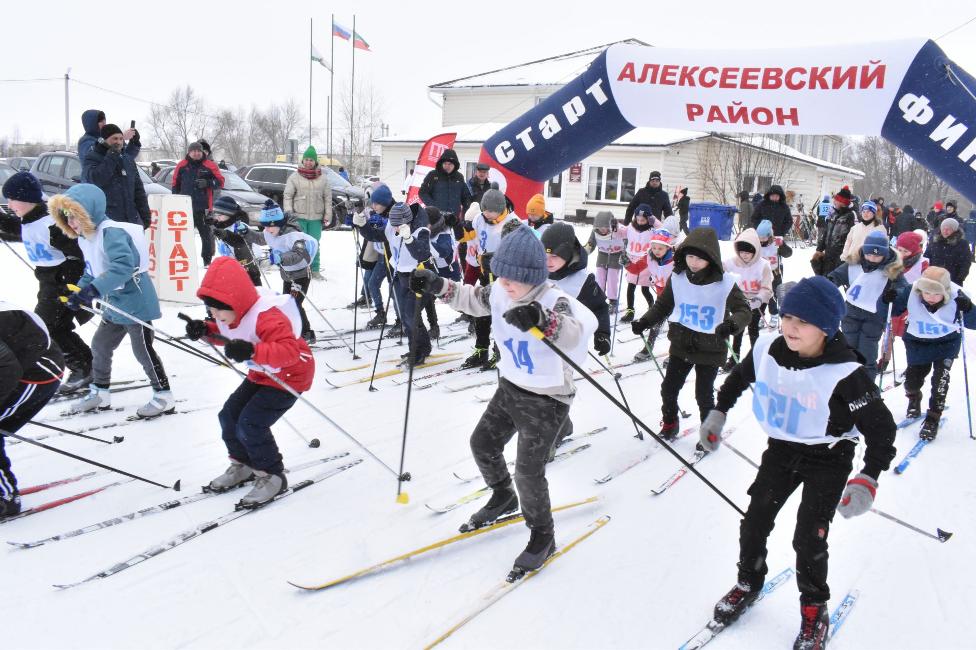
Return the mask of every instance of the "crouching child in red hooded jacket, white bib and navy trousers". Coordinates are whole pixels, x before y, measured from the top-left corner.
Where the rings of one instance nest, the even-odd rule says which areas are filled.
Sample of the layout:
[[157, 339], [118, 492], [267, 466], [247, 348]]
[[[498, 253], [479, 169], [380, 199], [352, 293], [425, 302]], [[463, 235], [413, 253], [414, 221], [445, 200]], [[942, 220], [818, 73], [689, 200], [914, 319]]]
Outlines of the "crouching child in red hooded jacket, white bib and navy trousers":
[[315, 362], [302, 339], [295, 299], [252, 285], [236, 259], [215, 259], [196, 295], [209, 308], [211, 318], [188, 321], [186, 335], [195, 341], [221, 334], [230, 339], [224, 348], [227, 358], [250, 368], [218, 415], [230, 467], [206, 489], [224, 492], [257, 478], [254, 488], [241, 499], [243, 507], [257, 508], [288, 488], [271, 425], [297, 401], [266, 372], [304, 393], [311, 388]]

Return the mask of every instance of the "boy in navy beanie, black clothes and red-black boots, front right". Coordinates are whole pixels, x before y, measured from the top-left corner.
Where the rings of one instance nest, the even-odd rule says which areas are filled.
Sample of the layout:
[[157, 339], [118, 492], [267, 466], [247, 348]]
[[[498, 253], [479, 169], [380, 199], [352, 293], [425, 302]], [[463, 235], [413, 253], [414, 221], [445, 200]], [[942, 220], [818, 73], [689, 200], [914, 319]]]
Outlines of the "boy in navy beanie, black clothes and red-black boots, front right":
[[[755, 421], [748, 429], [761, 429], [769, 438], [739, 525], [736, 584], [712, 613], [718, 623], [734, 622], [758, 598], [768, 571], [767, 538], [780, 509], [802, 485], [793, 532], [800, 591], [794, 648], [815, 647], [811, 641], [824, 638], [829, 625], [828, 539], [834, 514], [849, 518], [867, 513], [878, 477], [895, 456], [897, 428], [891, 412], [864, 359], [837, 331], [844, 312], [844, 299], [825, 278], [796, 284], [780, 305], [783, 333], [759, 336], [729, 373], [699, 429], [706, 451], [717, 450], [725, 414], [752, 386], [744, 412], [752, 412]], [[864, 466], [848, 480], [862, 436]]]

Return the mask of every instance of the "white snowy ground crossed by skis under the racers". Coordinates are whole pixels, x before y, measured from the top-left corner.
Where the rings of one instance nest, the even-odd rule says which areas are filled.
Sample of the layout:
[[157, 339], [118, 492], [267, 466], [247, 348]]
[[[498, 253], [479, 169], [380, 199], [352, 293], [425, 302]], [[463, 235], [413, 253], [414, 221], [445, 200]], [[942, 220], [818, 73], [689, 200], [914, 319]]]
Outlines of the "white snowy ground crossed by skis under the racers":
[[[581, 240], [588, 234], [579, 231]], [[351, 237], [348, 232], [323, 236], [323, 267], [329, 281], [314, 283], [311, 293], [337, 327], [352, 325], [352, 312], [341, 309], [353, 297]], [[723, 243], [722, 248], [728, 253], [731, 245]], [[809, 275], [810, 252], [795, 250], [787, 260], [787, 280]], [[32, 306], [35, 283], [20, 261], [9, 251], [2, 252], [0, 269], [5, 279], [3, 299]], [[276, 279], [274, 285], [278, 286]], [[637, 304], [640, 310], [639, 295]], [[183, 309], [203, 315], [202, 306]], [[438, 310], [443, 325], [453, 321], [454, 315], [446, 307], [441, 305]], [[183, 333], [178, 311], [165, 307], [158, 325]], [[318, 320], [314, 314], [309, 316], [313, 322]], [[366, 315], [360, 313], [359, 318], [362, 323]], [[325, 328], [324, 323], [319, 325]], [[90, 324], [82, 332], [90, 338], [94, 330], [95, 325]], [[623, 329], [623, 335], [629, 337], [629, 329]], [[451, 349], [467, 355], [470, 344], [468, 339]], [[618, 344], [616, 360], [629, 360], [638, 345]], [[182, 478], [182, 496], [224, 471], [217, 412], [238, 379], [230, 370], [170, 347], [158, 345], [157, 349], [171, 373], [176, 397], [184, 400], [180, 407], [202, 406], [203, 410], [119, 429], [114, 433], [125, 436], [121, 444], [67, 436], [47, 441], [162, 483]], [[658, 344], [659, 352], [665, 349], [665, 344]], [[381, 352], [381, 360], [404, 350], [391, 345]], [[360, 344], [357, 351], [364, 361], [372, 361], [371, 350]], [[897, 353], [902, 368], [904, 348], [900, 344]], [[976, 346], [969, 348], [969, 356], [976, 359]], [[113, 378], [142, 377], [126, 344], [115, 359]], [[368, 375], [368, 370], [336, 373], [326, 367], [325, 363], [352, 365], [347, 350], [316, 353], [316, 362], [317, 377], [306, 394], [308, 399], [386, 464], [398, 467], [406, 386], [387, 378], [377, 380], [380, 390], [375, 393], [368, 392], [365, 384], [333, 389], [323, 377], [348, 380]], [[976, 577], [971, 541], [976, 534], [976, 515], [966, 510], [970, 507], [966, 504], [972, 503], [976, 488], [959, 472], [973, 462], [976, 442], [968, 439], [961, 365], [960, 361], [953, 371], [949, 424], [905, 475], [887, 472], [880, 478], [875, 502], [878, 509], [925, 530], [935, 532], [940, 526], [955, 537], [940, 545], [880, 516], [836, 517], [831, 534], [831, 604], [836, 605], [852, 587], [860, 590], [861, 598], [834, 640], [834, 648], [973, 645], [965, 621], [969, 620], [967, 602]], [[625, 370], [637, 368], [643, 369]], [[427, 372], [434, 369], [439, 368]], [[447, 384], [487, 378], [468, 376]], [[606, 374], [596, 380], [616, 392]], [[635, 412], [656, 425], [660, 420], [657, 373], [624, 379], [622, 385]], [[405, 484], [409, 505], [395, 502], [395, 479], [366, 458], [358, 467], [261, 512], [106, 580], [67, 591], [52, 585], [81, 580], [223, 515], [240, 493], [36, 549], [4, 545], [5, 550], [0, 550], [3, 647], [407, 648], [429, 634], [446, 631], [459, 612], [467, 611], [507, 575], [511, 560], [528, 538], [523, 526], [508, 526], [324, 592], [302, 592], [287, 582], [325, 582], [425, 546], [454, 534], [479, 507], [474, 503], [435, 515], [424, 506], [447, 504], [481, 485], [476, 481], [463, 484], [452, 473], [476, 473], [468, 435], [484, 407], [477, 397], [490, 396], [493, 388], [450, 393], [443, 386], [413, 394], [405, 465], [413, 475]], [[609, 430], [586, 440], [592, 444], [587, 451], [552, 466], [552, 501], [562, 504], [593, 495], [602, 500], [557, 515], [557, 539], [568, 540], [598, 516], [612, 516], [612, 521], [456, 632], [444, 647], [674, 648], [704, 625], [714, 601], [735, 582], [739, 516], [694, 477], [683, 478], [660, 497], [652, 496], [649, 489], [677, 466], [665, 451], [605, 485], [593, 481], [642, 455], [653, 442], [635, 440], [626, 416], [592, 386], [585, 382], [578, 386], [580, 395], [572, 409], [576, 431], [602, 425]], [[925, 395], [927, 400], [927, 386]], [[149, 391], [144, 389], [117, 394], [113, 401], [135, 408], [148, 397]], [[903, 392], [888, 391], [884, 399], [900, 420], [906, 405]], [[680, 404], [693, 413], [682, 426], [697, 423], [690, 385], [682, 392]], [[56, 419], [63, 409], [63, 402], [50, 405], [40, 418]], [[124, 415], [99, 414], [61, 424], [81, 428], [121, 420]], [[307, 438], [322, 440], [322, 446], [309, 449], [287, 427], [277, 427], [286, 465], [340, 451], [350, 452], [350, 459], [364, 457], [306, 406], [294, 407], [288, 419]], [[728, 422], [738, 426], [730, 441], [758, 460], [766, 438], [757, 429], [747, 400], [740, 401]], [[29, 436], [42, 433], [30, 426], [21, 430]], [[110, 437], [112, 433], [105, 430], [95, 435]], [[915, 440], [915, 429], [899, 433], [899, 459]], [[688, 456], [693, 444], [689, 437], [677, 442], [676, 448]], [[88, 467], [26, 444], [8, 450], [21, 486], [80, 474]], [[754, 476], [750, 466], [722, 449], [698, 467], [746, 508], [746, 489]], [[298, 476], [311, 474], [312, 470], [306, 470]], [[24, 507], [113, 479], [91, 478], [30, 495], [24, 497]], [[51, 512], [0, 525], [0, 540], [40, 539], [177, 496], [145, 483], [127, 483]], [[784, 508], [769, 541], [769, 566], [774, 573], [793, 564], [797, 499], [794, 495]], [[912, 624], [906, 625], [908, 622]], [[713, 643], [715, 648], [784, 648], [790, 647], [797, 629], [797, 592], [791, 582]]]

